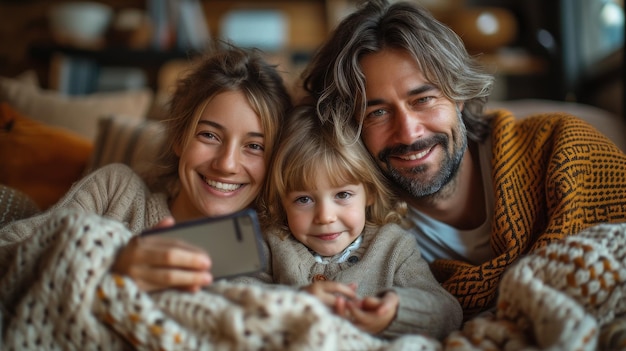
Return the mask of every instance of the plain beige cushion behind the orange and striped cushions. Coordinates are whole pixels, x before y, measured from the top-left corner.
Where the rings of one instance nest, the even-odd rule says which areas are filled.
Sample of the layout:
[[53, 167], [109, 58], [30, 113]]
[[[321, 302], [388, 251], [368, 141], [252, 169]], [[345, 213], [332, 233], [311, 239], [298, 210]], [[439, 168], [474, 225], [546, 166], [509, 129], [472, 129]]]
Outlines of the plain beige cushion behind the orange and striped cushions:
[[119, 114], [145, 119], [152, 100], [149, 89], [66, 96], [18, 79], [0, 77], [0, 102], [9, 103], [34, 120], [66, 128], [91, 141], [95, 140], [101, 117]]

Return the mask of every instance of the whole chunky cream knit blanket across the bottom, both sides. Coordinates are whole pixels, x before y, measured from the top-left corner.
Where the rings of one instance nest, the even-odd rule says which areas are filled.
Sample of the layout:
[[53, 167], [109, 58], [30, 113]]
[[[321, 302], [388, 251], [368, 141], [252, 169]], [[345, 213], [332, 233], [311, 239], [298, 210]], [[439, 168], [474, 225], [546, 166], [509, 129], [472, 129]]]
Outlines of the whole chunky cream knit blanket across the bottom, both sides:
[[620, 350], [626, 349], [626, 224], [589, 228], [521, 259], [498, 309], [443, 342], [359, 331], [291, 290], [216, 283], [141, 292], [109, 273], [132, 235], [61, 211], [20, 246], [0, 281], [2, 350]]

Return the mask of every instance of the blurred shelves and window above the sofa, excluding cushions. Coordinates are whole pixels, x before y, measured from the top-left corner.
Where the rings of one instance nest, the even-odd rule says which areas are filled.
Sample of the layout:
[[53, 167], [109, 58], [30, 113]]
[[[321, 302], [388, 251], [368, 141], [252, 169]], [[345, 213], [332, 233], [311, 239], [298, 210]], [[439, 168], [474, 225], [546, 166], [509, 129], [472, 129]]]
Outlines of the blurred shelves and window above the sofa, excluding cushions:
[[[412, 0], [497, 77], [493, 101], [580, 102], [624, 116], [623, 0]], [[352, 0], [0, 0], [0, 76], [85, 95], [167, 89], [214, 39], [297, 78]]]

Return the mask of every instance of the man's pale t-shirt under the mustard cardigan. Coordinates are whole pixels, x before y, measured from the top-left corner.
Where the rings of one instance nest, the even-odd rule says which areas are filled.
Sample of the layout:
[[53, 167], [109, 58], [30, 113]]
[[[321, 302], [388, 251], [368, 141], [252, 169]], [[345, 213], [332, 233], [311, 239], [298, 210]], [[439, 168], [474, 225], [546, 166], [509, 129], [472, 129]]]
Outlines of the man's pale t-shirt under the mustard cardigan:
[[435, 259], [454, 259], [480, 264], [492, 259], [491, 219], [493, 217], [493, 186], [491, 180], [491, 142], [479, 144], [479, 162], [485, 189], [485, 222], [475, 229], [459, 230], [435, 220], [409, 206], [409, 231], [417, 238], [422, 256], [427, 262]]

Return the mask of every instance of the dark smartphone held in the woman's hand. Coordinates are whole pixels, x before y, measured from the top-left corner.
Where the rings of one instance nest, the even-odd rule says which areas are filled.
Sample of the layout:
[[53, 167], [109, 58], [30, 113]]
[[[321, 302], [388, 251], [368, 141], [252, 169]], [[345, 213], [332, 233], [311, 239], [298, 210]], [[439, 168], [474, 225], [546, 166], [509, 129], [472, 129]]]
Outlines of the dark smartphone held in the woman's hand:
[[213, 279], [256, 273], [265, 266], [261, 229], [253, 209], [150, 229], [142, 235], [164, 235], [204, 249], [211, 257]]

